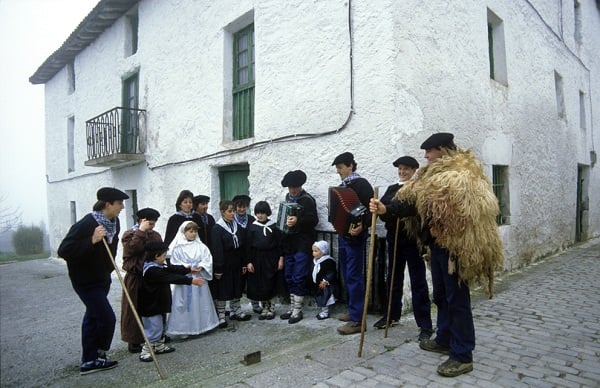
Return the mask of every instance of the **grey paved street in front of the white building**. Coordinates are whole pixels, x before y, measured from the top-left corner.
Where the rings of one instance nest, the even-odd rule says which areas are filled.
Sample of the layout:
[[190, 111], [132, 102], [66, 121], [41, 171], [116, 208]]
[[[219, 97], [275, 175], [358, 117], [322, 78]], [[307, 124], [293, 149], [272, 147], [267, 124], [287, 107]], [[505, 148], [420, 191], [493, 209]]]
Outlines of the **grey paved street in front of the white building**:
[[[474, 370], [457, 378], [437, 375], [445, 356], [419, 349], [410, 316], [383, 338], [383, 330], [372, 327], [378, 317], [370, 315], [359, 358], [360, 336], [336, 334], [340, 322], [318, 321], [314, 306], [295, 325], [255, 316], [229, 330], [175, 341], [175, 353], [159, 356], [164, 381], [152, 363], [127, 352], [117, 331], [111, 354], [119, 367], [79, 376], [83, 306], [64, 262], [45, 259], [0, 269], [2, 387], [600, 386], [600, 239], [503, 276], [492, 300], [475, 292]], [[110, 297], [118, 316], [116, 279]], [[343, 306], [336, 309], [341, 313]], [[257, 350], [260, 363], [240, 362]]]

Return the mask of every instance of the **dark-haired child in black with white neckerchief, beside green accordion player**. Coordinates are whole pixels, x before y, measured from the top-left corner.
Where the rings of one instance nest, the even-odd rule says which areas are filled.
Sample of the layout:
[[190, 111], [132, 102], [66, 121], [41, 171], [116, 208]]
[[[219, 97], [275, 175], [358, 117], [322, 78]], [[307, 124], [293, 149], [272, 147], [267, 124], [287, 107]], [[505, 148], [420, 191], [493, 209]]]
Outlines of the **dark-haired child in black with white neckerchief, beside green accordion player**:
[[254, 206], [256, 220], [248, 226], [248, 299], [259, 300], [262, 312], [258, 319], [275, 318], [271, 299], [283, 285], [282, 232], [269, 219], [271, 207], [265, 201]]

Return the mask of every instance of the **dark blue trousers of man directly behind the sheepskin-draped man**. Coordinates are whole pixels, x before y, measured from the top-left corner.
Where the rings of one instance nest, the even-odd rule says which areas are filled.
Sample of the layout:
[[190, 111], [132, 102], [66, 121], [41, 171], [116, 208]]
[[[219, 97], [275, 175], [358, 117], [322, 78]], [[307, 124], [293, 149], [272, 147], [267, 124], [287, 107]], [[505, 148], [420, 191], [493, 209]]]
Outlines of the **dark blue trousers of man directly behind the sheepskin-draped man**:
[[[394, 234], [388, 233], [386, 239], [388, 244], [388, 293], [392, 281], [392, 267], [394, 265]], [[412, 293], [412, 307], [417, 326], [422, 329], [431, 329], [431, 301], [429, 300], [429, 287], [427, 285], [425, 262], [419, 255], [417, 242], [411, 239], [399, 238], [396, 246], [396, 274], [392, 287], [392, 304], [390, 319], [398, 320], [402, 313], [402, 294], [404, 288], [404, 269], [408, 264], [410, 276], [410, 290]], [[387, 298], [385, 295], [385, 308], [387, 314]]]

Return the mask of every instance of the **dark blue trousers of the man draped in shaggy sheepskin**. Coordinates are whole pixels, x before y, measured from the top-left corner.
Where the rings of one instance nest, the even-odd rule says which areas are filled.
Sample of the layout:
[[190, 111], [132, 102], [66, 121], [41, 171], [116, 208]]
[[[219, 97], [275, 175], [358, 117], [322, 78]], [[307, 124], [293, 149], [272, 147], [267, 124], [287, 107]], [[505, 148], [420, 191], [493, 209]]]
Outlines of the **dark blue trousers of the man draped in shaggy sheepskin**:
[[430, 248], [433, 302], [438, 307], [435, 341], [450, 347], [451, 359], [473, 362], [475, 326], [469, 287], [459, 282], [456, 273], [448, 274], [448, 251], [437, 244]]

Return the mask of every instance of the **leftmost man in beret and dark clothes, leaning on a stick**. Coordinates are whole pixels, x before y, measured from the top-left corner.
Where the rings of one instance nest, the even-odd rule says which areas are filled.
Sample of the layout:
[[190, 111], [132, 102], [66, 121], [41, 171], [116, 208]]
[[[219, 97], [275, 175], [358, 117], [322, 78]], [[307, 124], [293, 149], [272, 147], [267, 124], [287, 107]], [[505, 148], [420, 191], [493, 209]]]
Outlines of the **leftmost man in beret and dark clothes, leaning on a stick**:
[[67, 262], [73, 289], [86, 308], [81, 325], [82, 375], [117, 366], [117, 361], [110, 361], [106, 355], [116, 318], [107, 298], [114, 266], [102, 241], [106, 239], [114, 257], [119, 244], [118, 216], [124, 208], [123, 200], [129, 196], [103, 187], [96, 197], [93, 211], [71, 226], [58, 248], [58, 255]]

